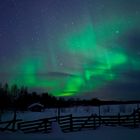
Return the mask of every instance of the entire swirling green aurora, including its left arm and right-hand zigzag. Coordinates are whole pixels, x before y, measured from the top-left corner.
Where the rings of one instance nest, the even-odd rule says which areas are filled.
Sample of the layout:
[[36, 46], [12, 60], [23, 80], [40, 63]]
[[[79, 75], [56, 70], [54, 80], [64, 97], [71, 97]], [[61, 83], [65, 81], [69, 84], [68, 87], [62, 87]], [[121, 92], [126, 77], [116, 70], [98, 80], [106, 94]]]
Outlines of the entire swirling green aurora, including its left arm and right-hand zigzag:
[[[20, 66], [23, 73], [21, 78], [23, 85], [47, 89], [55, 96], [73, 96], [83, 91], [94, 91], [105, 83], [114, 80], [114, 68], [127, 61], [127, 56], [123, 51], [115, 51], [97, 45], [96, 32], [91, 24], [68, 33], [61, 38], [59, 43], [59, 46], [64, 46], [64, 52], [72, 54], [79, 61], [84, 60], [84, 62], [76, 63], [71, 62], [71, 58], [67, 58], [68, 63], [77, 64], [79, 67], [77, 76], [52, 78], [47, 75], [47, 69], [46, 75], [38, 76], [40, 68], [44, 67], [44, 60], [26, 58], [26, 61], [24, 60]], [[73, 65], [69, 65], [69, 67], [73, 67]], [[72, 72], [75, 73], [74, 70]]]

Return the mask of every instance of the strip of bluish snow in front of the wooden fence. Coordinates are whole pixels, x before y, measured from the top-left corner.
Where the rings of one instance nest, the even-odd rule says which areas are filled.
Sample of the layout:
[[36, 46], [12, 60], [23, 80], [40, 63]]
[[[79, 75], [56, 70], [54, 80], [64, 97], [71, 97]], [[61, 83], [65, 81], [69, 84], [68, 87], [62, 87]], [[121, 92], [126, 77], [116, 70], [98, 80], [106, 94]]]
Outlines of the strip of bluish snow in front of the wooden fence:
[[0, 140], [139, 140], [140, 129], [101, 127], [97, 130], [50, 134], [0, 133]]

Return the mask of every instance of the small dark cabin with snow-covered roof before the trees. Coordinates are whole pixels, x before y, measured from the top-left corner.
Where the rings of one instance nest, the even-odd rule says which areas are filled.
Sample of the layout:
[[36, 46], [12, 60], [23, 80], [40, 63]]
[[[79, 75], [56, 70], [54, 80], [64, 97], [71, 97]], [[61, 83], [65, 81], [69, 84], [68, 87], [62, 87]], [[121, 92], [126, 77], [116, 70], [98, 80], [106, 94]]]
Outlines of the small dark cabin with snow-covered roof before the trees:
[[44, 111], [44, 106], [40, 103], [33, 103], [30, 106], [28, 106], [28, 110], [33, 112], [41, 112]]

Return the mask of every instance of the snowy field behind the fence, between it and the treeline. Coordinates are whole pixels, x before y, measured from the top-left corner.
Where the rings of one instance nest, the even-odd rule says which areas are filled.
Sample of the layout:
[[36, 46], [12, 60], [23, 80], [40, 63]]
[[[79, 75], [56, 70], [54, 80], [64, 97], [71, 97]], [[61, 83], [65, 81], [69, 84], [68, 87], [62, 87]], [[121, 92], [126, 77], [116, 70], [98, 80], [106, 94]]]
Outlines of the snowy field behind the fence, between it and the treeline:
[[[103, 105], [100, 106], [100, 115], [121, 115], [131, 114], [134, 109], [137, 109], [140, 105], [138, 104], [128, 104], [128, 105]], [[44, 112], [17, 112], [17, 119], [26, 120], [35, 120], [40, 118], [48, 118], [57, 116], [58, 109], [45, 109]], [[71, 107], [71, 108], [62, 108], [60, 115], [69, 115], [73, 116], [89, 116], [91, 114], [99, 114], [99, 107], [96, 106], [80, 106], [80, 107]], [[8, 111], [4, 112], [1, 116], [2, 121], [11, 120], [13, 118], [13, 112]]]

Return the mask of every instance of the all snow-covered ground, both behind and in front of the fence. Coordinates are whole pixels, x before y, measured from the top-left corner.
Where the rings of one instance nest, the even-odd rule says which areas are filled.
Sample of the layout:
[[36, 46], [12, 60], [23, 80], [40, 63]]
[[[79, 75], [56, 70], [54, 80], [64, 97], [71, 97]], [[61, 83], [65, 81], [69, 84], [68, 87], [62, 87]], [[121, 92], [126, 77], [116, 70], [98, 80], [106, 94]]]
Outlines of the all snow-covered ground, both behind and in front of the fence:
[[[139, 105], [104, 105], [100, 107], [101, 115], [131, 114]], [[46, 109], [44, 112], [17, 112], [17, 118], [34, 120], [39, 118], [53, 117], [57, 115], [57, 109]], [[73, 114], [73, 116], [99, 114], [99, 107], [73, 107], [61, 109], [61, 115]], [[1, 120], [11, 120], [13, 112], [3, 113]], [[100, 127], [96, 130], [63, 133], [59, 127], [52, 126], [50, 134], [23, 132], [0, 132], [0, 140], [139, 140], [140, 128], [130, 129], [125, 127]]]

